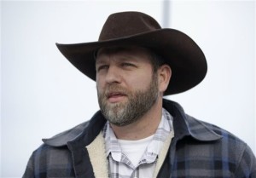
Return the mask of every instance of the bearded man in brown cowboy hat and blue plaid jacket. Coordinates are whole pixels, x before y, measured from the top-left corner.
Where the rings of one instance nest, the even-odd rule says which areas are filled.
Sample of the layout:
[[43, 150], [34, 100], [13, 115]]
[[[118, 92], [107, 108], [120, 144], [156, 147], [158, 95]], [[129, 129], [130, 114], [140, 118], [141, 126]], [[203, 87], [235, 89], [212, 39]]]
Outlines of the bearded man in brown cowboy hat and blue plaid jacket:
[[99, 40], [57, 44], [96, 81], [101, 110], [44, 140], [23, 177], [256, 177], [246, 143], [164, 95], [201, 83], [207, 62], [183, 32], [147, 14], [111, 14]]

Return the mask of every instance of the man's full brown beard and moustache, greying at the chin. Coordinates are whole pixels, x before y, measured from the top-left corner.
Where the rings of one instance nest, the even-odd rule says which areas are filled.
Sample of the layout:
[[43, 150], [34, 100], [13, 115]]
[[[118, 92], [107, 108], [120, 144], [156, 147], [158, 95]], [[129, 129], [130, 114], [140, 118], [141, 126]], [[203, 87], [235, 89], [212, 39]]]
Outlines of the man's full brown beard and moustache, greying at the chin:
[[[108, 93], [118, 91], [125, 94], [127, 100], [124, 102], [109, 104]], [[108, 85], [104, 93], [98, 93], [98, 102], [103, 116], [116, 126], [125, 126], [136, 122], [148, 112], [159, 97], [157, 75], [153, 74], [151, 83], [144, 90], [135, 92], [128, 91], [116, 83]]]

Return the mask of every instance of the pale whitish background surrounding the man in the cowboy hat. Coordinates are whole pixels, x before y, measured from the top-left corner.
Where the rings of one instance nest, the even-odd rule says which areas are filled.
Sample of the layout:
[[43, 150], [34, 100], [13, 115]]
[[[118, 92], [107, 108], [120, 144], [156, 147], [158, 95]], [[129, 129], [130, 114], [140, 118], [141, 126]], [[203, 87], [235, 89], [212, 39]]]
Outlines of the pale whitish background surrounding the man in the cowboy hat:
[[108, 14], [126, 10], [150, 14], [201, 46], [207, 77], [168, 98], [256, 152], [254, 1], [2, 1], [1, 177], [20, 177], [41, 138], [72, 128], [98, 110], [96, 83], [55, 43], [96, 41]]

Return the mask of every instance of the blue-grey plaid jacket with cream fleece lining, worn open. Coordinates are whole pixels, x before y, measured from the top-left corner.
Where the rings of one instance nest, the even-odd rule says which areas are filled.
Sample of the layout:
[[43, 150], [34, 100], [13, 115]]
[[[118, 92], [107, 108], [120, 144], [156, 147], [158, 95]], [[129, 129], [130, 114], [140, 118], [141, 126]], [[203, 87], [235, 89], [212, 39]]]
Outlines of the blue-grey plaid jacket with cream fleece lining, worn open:
[[[176, 102], [163, 103], [173, 117], [175, 135], [158, 178], [256, 178], [256, 158], [244, 141], [211, 123], [190, 117]], [[44, 140], [32, 153], [23, 178], [94, 178], [96, 166], [107, 170], [108, 164], [92, 161], [106, 160], [105, 152], [94, 158], [85, 147], [98, 138], [105, 124], [102, 113], [96, 112], [89, 122]]]

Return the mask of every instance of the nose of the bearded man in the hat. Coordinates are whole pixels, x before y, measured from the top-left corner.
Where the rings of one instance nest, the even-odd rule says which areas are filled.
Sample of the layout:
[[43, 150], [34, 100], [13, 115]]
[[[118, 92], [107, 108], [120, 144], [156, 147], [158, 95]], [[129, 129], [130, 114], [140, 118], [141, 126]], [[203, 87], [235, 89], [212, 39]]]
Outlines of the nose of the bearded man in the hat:
[[108, 72], [106, 73], [106, 82], [107, 83], [120, 83], [121, 75], [117, 66], [109, 66]]

